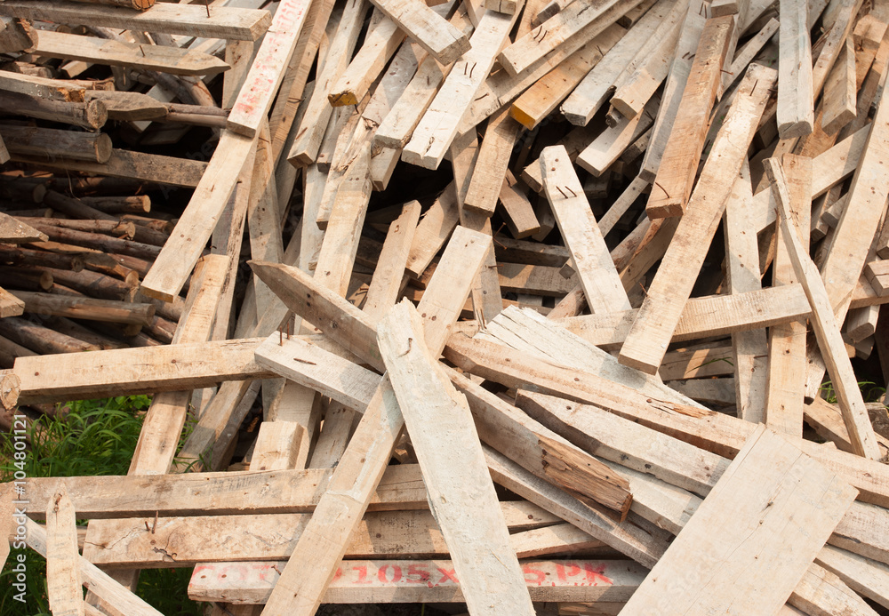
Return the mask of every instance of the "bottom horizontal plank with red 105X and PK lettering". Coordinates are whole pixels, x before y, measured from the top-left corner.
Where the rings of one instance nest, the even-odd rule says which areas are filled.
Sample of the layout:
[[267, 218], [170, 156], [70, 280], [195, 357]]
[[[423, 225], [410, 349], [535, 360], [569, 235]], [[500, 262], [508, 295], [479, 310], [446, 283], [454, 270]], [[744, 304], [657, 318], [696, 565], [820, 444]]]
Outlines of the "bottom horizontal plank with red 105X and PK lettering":
[[[283, 563], [206, 564], [196, 568], [189, 596], [204, 601], [261, 604], [279, 583]], [[525, 561], [534, 601], [597, 601], [629, 596], [645, 576], [631, 561]], [[450, 560], [350, 560], [324, 594], [325, 604], [459, 603], [462, 581]], [[382, 580], [382, 581], [380, 581]]]

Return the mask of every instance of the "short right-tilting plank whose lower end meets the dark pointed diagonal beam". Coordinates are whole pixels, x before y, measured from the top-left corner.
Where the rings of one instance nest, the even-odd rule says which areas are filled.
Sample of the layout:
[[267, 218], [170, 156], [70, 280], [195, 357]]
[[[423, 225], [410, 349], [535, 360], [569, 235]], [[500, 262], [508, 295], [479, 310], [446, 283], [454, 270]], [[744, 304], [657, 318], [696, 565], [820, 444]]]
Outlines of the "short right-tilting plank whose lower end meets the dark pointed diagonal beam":
[[398, 300], [419, 220], [420, 202], [412, 201], [404, 204], [401, 215], [389, 224], [386, 241], [364, 299], [364, 312], [372, 318], [380, 318]]

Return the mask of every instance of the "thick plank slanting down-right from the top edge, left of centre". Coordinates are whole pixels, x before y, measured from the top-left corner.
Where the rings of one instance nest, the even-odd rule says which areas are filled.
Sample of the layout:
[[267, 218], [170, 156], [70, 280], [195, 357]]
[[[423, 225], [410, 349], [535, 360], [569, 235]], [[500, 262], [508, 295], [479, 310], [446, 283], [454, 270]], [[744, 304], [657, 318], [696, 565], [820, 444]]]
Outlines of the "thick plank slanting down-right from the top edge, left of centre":
[[429, 8], [425, 2], [373, 0], [373, 5], [441, 64], [450, 64], [469, 52], [470, 44], [467, 36]]

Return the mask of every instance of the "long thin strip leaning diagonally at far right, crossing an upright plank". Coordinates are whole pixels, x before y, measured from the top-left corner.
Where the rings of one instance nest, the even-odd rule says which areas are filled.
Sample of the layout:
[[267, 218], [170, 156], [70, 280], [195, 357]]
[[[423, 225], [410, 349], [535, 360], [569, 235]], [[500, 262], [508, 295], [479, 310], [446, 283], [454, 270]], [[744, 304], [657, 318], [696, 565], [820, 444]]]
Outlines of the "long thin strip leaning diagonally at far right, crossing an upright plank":
[[791, 197], [781, 164], [773, 158], [768, 158], [765, 160], [765, 172], [772, 182], [784, 245], [787, 246], [794, 272], [803, 284], [805, 296], [812, 306], [812, 326], [818, 339], [818, 346], [821, 348], [821, 356], [828, 367], [830, 380], [837, 392], [837, 400], [843, 412], [845, 427], [849, 430], [853, 452], [871, 460], [879, 460], [877, 437], [870, 424], [868, 410], [864, 406], [852, 364], [845, 353], [845, 343], [839, 331], [837, 316], [831, 309], [824, 280], [808, 252], [805, 251], [797, 228], [791, 222]]

